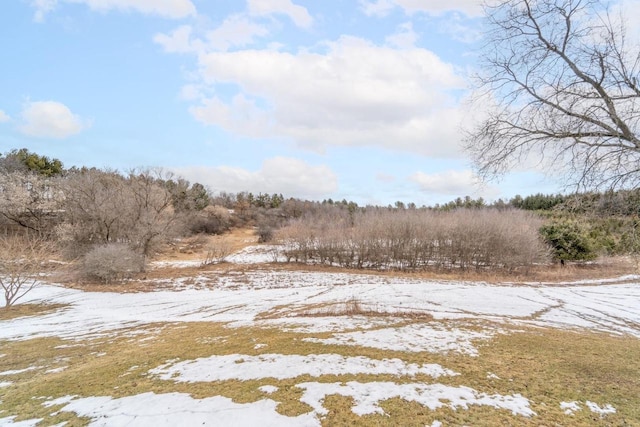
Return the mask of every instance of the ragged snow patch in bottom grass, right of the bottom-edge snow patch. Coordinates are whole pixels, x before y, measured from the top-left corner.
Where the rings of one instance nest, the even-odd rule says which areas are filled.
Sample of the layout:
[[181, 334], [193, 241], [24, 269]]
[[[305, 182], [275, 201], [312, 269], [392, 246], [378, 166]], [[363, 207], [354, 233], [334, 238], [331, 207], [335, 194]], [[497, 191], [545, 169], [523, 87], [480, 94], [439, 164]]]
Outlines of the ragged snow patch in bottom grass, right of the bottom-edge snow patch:
[[298, 384], [296, 387], [304, 390], [300, 401], [311, 406], [320, 415], [328, 413], [322, 406], [322, 401], [326, 396], [332, 394], [351, 397], [354, 401], [354, 406], [351, 410], [357, 415], [384, 414], [378, 404], [394, 397], [419, 403], [431, 410], [445, 406], [452, 409], [467, 409], [471, 405], [486, 405], [508, 410], [514, 415], [525, 417], [535, 415], [535, 412], [529, 407], [529, 401], [519, 394], [508, 396], [488, 395], [464, 386], [350, 381], [346, 384], [308, 382]]

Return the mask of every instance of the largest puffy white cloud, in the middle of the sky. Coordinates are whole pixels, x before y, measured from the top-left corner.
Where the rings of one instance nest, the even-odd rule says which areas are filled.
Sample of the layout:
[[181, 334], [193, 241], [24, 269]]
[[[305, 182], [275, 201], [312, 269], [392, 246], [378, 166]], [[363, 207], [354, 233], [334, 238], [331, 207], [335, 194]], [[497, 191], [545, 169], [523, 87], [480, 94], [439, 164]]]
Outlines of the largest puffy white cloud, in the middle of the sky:
[[374, 145], [434, 156], [458, 153], [464, 86], [450, 64], [425, 49], [396, 50], [356, 37], [301, 50], [210, 52], [202, 81], [239, 91], [191, 108], [201, 122], [254, 137], [285, 137], [322, 151]]

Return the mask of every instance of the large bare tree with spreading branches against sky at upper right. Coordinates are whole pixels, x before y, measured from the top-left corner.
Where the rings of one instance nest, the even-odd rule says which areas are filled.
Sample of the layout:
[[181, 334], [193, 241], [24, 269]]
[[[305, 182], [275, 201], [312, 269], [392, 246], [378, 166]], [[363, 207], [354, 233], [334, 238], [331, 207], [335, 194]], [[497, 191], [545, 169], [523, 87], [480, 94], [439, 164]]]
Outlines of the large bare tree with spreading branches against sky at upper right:
[[541, 156], [578, 189], [640, 183], [640, 50], [601, 0], [498, 0], [486, 6], [479, 99], [493, 108], [466, 138], [495, 178]]

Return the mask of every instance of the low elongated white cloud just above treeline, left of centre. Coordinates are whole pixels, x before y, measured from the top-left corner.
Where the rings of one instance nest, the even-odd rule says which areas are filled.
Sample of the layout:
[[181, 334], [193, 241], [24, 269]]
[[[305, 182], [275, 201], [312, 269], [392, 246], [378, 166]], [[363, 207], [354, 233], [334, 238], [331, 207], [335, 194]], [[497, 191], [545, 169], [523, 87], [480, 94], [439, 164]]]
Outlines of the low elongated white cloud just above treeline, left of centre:
[[288, 157], [266, 159], [258, 171], [230, 166], [186, 167], [173, 171], [214, 191], [282, 193], [290, 197], [318, 198], [338, 188], [338, 178], [328, 166], [314, 166]]

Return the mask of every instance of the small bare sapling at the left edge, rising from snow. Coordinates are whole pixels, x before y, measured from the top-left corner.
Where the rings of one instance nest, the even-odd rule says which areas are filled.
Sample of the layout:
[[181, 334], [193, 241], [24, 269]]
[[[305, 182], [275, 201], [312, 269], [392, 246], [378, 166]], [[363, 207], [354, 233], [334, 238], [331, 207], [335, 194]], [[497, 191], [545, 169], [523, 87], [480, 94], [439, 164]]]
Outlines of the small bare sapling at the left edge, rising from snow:
[[51, 256], [45, 241], [25, 236], [0, 238], [0, 286], [8, 309], [38, 284], [38, 274]]

